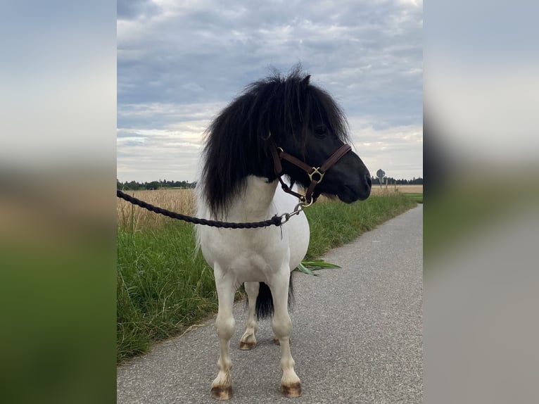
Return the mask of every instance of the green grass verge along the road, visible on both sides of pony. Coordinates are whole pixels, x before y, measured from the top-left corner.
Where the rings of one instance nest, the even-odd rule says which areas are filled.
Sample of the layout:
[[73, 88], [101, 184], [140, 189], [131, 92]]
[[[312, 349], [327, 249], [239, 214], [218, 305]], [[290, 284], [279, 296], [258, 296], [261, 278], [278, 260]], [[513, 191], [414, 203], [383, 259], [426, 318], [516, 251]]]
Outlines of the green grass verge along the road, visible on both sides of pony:
[[[415, 205], [404, 194], [388, 194], [351, 205], [325, 201], [310, 206], [305, 209], [311, 228], [305, 259], [353, 241]], [[118, 226], [118, 362], [217, 311], [213, 272], [194, 250], [193, 227], [184, 222], [170, 220], [157, 229]]]

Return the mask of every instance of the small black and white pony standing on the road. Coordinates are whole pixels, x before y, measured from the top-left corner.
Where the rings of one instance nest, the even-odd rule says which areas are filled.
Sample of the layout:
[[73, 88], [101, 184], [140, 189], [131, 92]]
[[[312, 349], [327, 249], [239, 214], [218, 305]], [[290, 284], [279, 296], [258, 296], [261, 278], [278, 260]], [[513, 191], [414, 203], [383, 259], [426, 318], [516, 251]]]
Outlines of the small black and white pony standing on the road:
[[[320, 194], [338, 196], [346, 203], [370, 194], [369, 170], [345, 145], [349, 139], [343, 112], [299, 68], [286, 77], [274, 73], [250, 84], [217, 115], [207, 136], [196, 192], [198, 217], [258, 222], [290, 213], [298, 202], [303, 208]], [[281, 175], [303, 185], [307, 196], [298, 200], [278, 187]], [[281, 393], [300, 396], [290, 352], [288, 286], [291, 271], [309, 245], [307, 218], [300, 212], [280, 228], [198, 225], [196, 233], [204, 258], [213, 267], [219, 297], [215, 327], [220, 356], [213, 398], [232, 397], [232, 305], [242, 283], [248, 295], [248, 320], [240, 348], [255, 347], [257, 318], [272, 314], [273, 332], [281, 346]]]

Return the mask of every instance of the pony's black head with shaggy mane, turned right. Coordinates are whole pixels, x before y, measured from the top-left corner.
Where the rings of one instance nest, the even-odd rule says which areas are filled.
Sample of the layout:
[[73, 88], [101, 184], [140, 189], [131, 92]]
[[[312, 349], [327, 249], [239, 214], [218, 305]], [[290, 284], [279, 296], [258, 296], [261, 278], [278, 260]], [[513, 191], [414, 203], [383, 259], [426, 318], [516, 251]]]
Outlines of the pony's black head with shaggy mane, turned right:
[[[296, 67], [287, 76], [274, 73], [248, 85], [243, 94], [213, 120], [206, 132], [201, 185], [213, 213], [226, 209], [248, 175], [277, 178], [271, 145], [320, 167], [349, 143], [348, 122], [323, 89], [310, 84], [310, 75]], [[282, 160], [285, 175], [308, 187], [305, 170]], [[362, 160], [348, 151], [324, 174], [314, 196], [338, 196], [351, 203], [368, 198], [371, 176]]]

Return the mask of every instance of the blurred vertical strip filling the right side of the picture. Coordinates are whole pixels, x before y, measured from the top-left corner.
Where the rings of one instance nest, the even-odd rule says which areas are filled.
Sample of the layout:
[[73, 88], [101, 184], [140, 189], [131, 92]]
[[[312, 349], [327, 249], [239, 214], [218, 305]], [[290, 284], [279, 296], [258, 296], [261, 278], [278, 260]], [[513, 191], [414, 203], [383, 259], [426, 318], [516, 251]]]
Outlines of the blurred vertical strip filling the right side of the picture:
[[426, 403], [538, 400], [537, 8], [424, 8]]

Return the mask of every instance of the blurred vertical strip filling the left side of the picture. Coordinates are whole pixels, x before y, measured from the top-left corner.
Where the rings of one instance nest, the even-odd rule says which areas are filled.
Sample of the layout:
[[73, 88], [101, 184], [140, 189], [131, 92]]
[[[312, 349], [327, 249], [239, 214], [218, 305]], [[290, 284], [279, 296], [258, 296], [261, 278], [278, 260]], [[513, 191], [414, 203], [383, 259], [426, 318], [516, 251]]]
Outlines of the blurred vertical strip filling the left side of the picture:
[[115, 402], [116, 5], [0, 13], [0, 401]]

